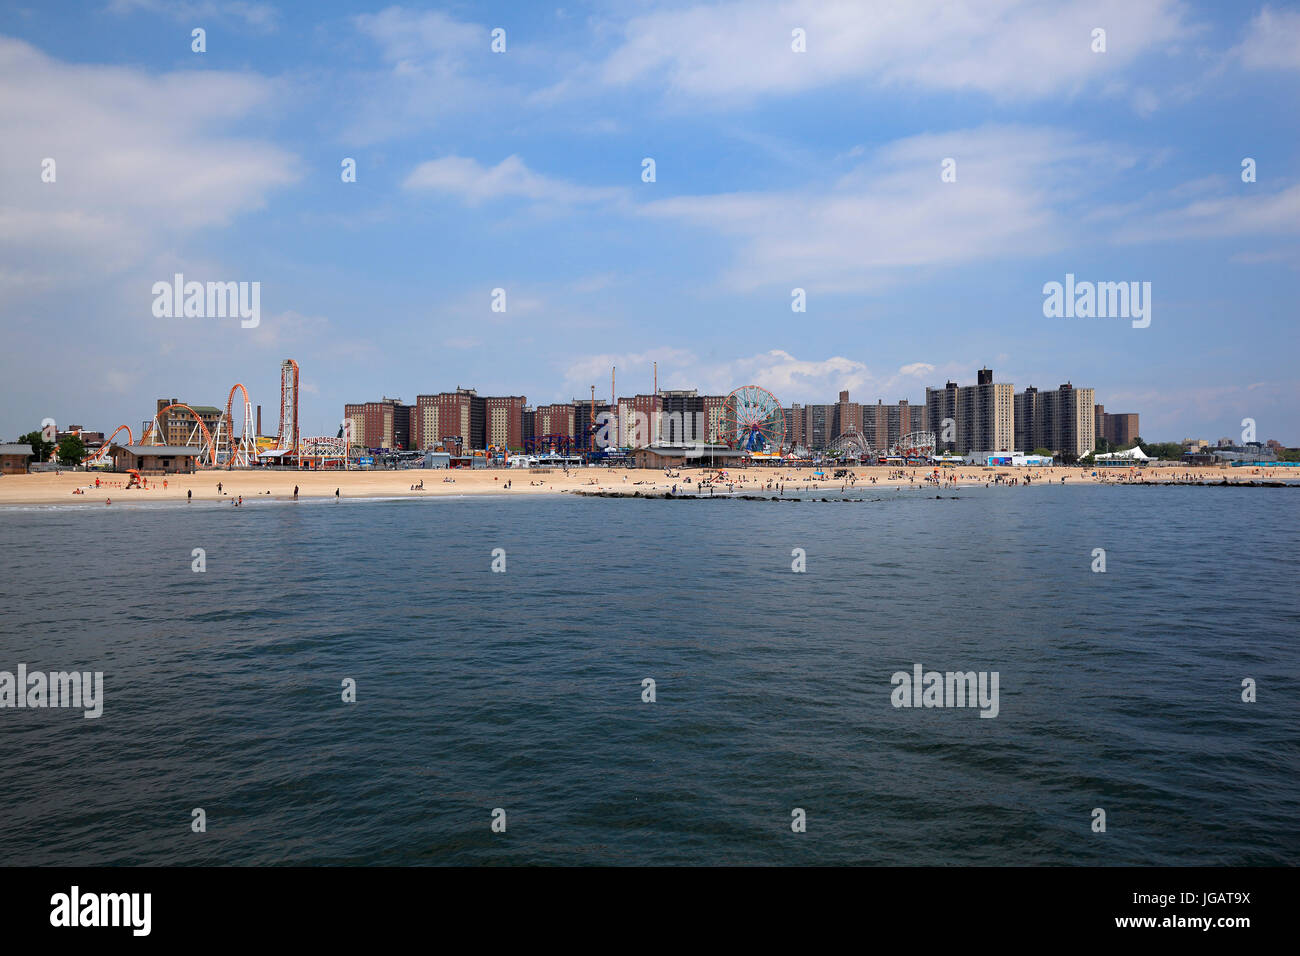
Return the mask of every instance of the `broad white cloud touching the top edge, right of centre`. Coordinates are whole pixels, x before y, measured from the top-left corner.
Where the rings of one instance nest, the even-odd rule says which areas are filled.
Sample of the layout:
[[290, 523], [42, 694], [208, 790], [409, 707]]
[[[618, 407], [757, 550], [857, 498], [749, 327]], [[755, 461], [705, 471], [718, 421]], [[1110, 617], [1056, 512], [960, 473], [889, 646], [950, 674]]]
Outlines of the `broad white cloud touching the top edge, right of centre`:
[[[790, 49], [796, 27], [805, 53]], [[1095, 27], [1105, 53], [1091, 49]], [[1114, 85], [1190, 33], [1179, 0], [744, 0], [628, 21], [599, 77], [716, 99], [866, 83], [1022, 100]]]

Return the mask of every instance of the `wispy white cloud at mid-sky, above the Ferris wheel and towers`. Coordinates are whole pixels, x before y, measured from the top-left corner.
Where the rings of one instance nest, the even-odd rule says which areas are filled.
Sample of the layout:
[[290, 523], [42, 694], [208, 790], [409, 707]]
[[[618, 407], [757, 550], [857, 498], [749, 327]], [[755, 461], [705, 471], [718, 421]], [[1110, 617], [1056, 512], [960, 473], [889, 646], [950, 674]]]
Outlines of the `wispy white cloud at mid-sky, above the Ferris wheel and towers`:
[[[940, 163], [957, 160], [957, 182]], [[897, 281], [904, 269], [1037, 255], [1076, 237], [1078, 185], [1132, 165], [1066, 130], [983, 127], [902, 139], [829, 187], [679, 196], [641, 212], [734, 237], [725, 284], [809, 297]]]

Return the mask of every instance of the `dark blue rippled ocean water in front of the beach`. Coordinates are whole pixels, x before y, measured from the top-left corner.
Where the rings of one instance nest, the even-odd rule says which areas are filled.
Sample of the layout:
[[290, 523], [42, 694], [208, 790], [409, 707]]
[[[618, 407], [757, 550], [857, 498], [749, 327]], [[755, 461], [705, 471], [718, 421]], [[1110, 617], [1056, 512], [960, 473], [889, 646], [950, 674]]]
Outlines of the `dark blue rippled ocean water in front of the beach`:
[[1300, 492], [940, 494], [0, 511], [0, 858], [1296, 864]]

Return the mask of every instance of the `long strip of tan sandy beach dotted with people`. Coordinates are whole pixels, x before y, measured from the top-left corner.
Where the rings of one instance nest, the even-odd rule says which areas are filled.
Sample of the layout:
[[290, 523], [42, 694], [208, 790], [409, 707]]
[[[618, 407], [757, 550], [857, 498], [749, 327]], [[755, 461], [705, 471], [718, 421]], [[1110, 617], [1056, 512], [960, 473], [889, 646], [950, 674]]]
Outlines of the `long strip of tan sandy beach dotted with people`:
[[[335, 490], [341, 498], [380, 498], [380, 497], [428, 497], [463, 494], [562, 494], [572, 492], [615, 492], [624, 494], [655, 493], [676, 490], [679, 494], [697, 492], [701, 486], [708, 493], [710, 479], [712, 493], [759, 494], [775, 493], [776, 485], [784, 485], [785, 494], [811, 492], [864, 490], [872, 486], [930, 486], [926, 481], [930, 470], [887, 466], [858, 466], [849, 468], [852, 480], [832, 479], [833, 468], [826, 470], [826, 477], [815, 477], [816, 468], [729, 468], [725, 479], [716, 480], [716, 471], [706, 468], [680, 468], [670, 477], [663, 471], [636, 468], [578, 468], [568, 473], [554, 470], [546, 473], [530, 473], [526, 470], [403, 470], [403, 471], [332, 471], [332, 472], [289, 472], [289, 471], [203, 471], [195, 475], [148, 476], [148, 488], [127, 489], [126, 475], [109, 472], [43, 472], [34, 475], [6, 475], [0, 479], [0, 506], [3, 505], [130, 505], [135, 502], [185, 501], [192, 493], [194, 501], [244, 501], [254, 499], [292, 499], [294, 488], [300, 498], [333, 498]], [[961, 488], [997, 484], [1015, 480], [1011, 486], [1024, 484], [1128, 484], [1135, 481], [1188, 483], [1222, 481], [1232, 483], [1296, 480], [1300, 475], [1295, 468], [1231, 468], [1231, 467], [1145, 467], [1145, 468], [1106, 468], [1093, 476], [1091, 470], [1080, 468], [987, 468], [958, 467], [941, 468], [941, 484], [937, 488]], [[99, 486], [95, 479], [99, 477]], [[1026, 481], [1028, 480], [1028, 481]], [[412, 488], [424, 483], [424, 488]], [[220, 490], [218, 490], [220, 484]]]

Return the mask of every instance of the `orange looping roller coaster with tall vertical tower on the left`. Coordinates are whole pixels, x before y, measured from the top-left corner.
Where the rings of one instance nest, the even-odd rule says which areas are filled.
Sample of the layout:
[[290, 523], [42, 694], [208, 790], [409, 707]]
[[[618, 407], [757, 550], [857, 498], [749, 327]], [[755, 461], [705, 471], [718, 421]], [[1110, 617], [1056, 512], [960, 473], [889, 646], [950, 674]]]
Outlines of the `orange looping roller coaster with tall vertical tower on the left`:
[[[173, 410], [179, 412], [179, 418], [192, 419], [188, 434], [181, 444], [199, 449], [198, 466], [200, 468], [248, 468], [259, 460], [273, 464], [291, 464], [299, 468], [342, 468], [347, 466], [348, 449], [344, 438], [328, 436], [302, 437], [298, 425], [298, 363], [285, 359], [280, 365], [280, 431], [274, 438], [259, 438], [254, 425], [252, 401], [248, 398], [248, 389], [240, 382], [230, 389], [226, 398], [225, 414], [217, 421], [214, 429], [209, 431], [203, 418], [183, 402], [159, 408], [157, 414], [144, 428], [140, 436], [140, 445], [166, 445], [164, 423], [172, 419]], [[243, 397], [243, 419], [239, 434], [235, 434], [234, 401], [235, 393]], [[82, 459], [82, 464], [103, 464], [108, 460], [109, 451], [118, 434], [126, 432], [126, 444], [135, 445], [134, 436], [129, 425], [118, 425], [117, 429], [92, 454]]]

